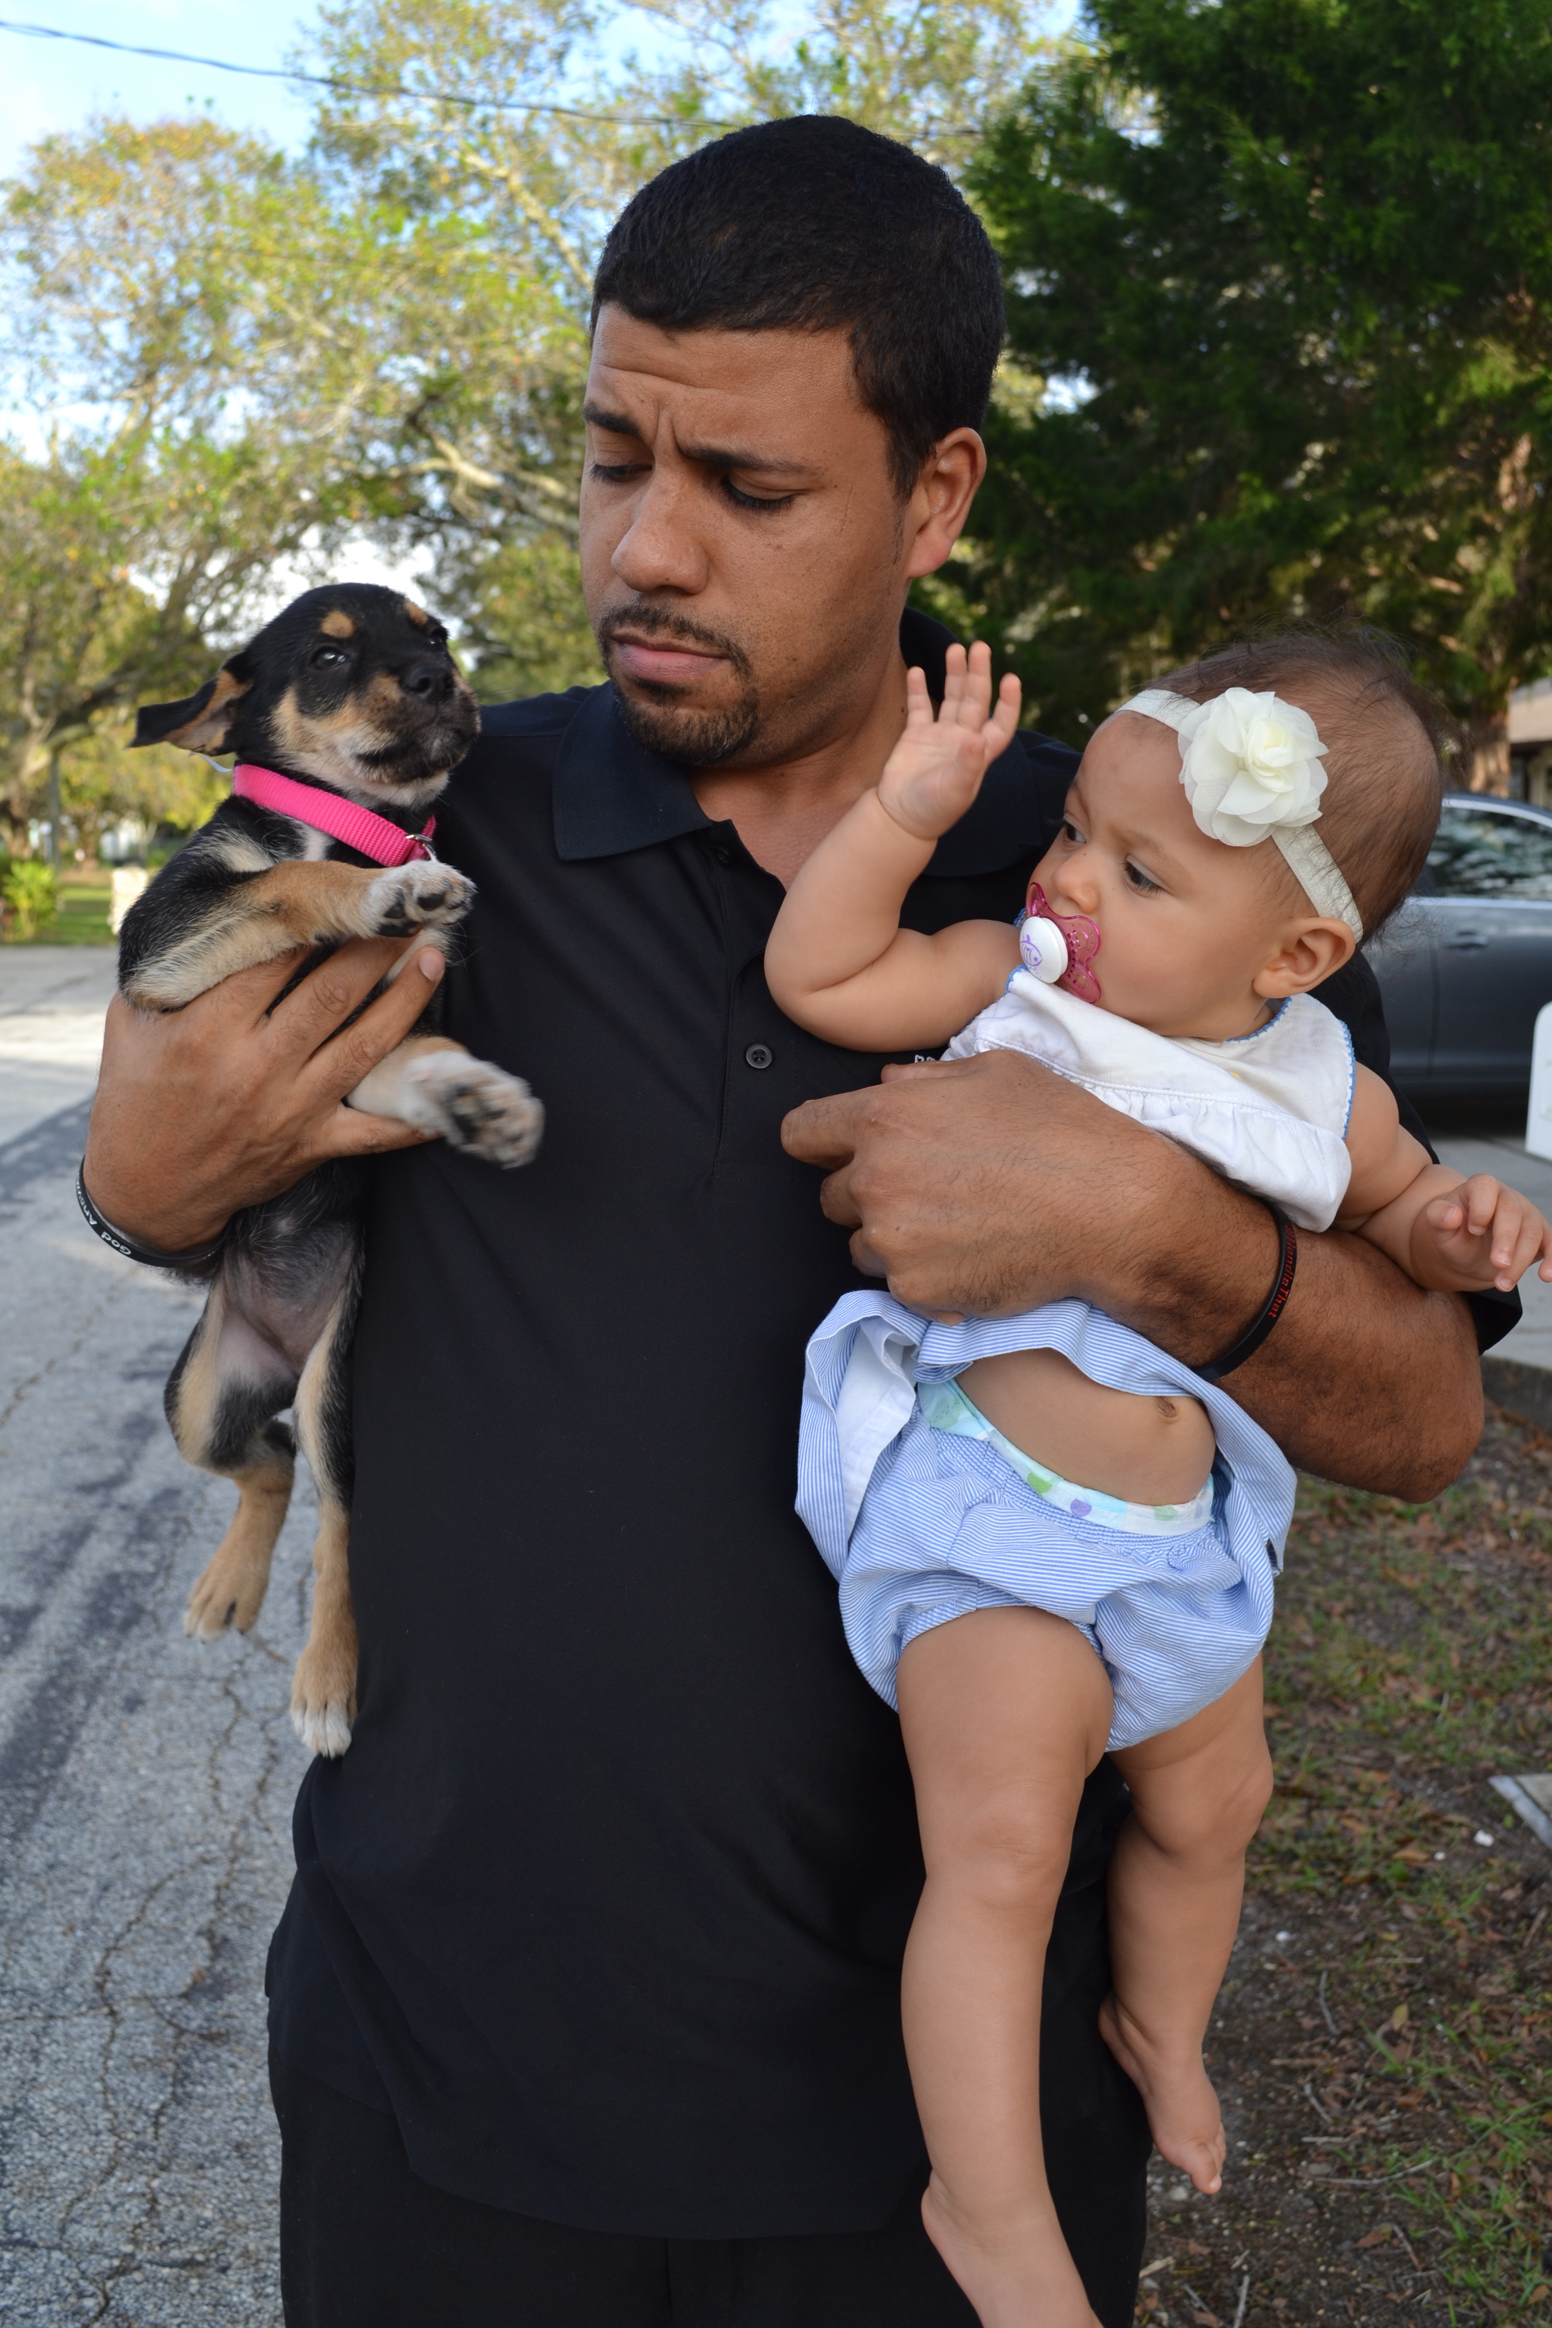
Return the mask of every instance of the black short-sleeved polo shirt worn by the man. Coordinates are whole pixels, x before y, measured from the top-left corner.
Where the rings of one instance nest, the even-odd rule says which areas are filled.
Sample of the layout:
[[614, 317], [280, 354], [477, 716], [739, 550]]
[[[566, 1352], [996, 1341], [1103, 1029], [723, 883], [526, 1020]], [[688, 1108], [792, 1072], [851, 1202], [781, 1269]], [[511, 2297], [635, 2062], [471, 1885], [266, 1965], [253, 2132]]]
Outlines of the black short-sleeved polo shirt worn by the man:
[[[903, 643], [942, 670], [935, 624]], [[905, 920], [1010, 920], [1073, 766], [1021, 736]], [[779, 1124], [882, 1062], [775, 1008], [779, 885], [607, 687], [486, 712], [437, 817], [479, 885], [449, 1031], [549, 1120], [526, 1171], [435, 1145], [372, 1173], [361, 1718], [298, 1800], [275, 2044], [468, 2198], [661, 2237], [868, 2228], [921, 2160], [921, 1860], [898, 1723], [793, 1516], [803, 1343], [859, 1280]], [[1336, 987], [1382, 1066], [1373, 978]], [[1054, 2160], [1131, 2207], [1145, 2135], [1094, 2032], [1122, 1811], [1103, 1767], [1045, 2070]]]

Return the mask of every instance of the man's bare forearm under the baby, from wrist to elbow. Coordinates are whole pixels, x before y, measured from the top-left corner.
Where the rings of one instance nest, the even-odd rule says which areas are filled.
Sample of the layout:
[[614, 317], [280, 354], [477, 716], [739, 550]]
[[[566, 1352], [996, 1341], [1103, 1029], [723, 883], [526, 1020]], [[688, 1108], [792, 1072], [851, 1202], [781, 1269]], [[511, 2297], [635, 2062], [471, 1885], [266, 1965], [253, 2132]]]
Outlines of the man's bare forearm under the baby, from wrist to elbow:
[[[1094, 1297], [1159, 1348], [1208, 1364], [1270, 1292], [1270, 1215], [1219, 1185], [1196, 1234], [1152, 1243], [1142, 1283], [1117, 1276]], [[1208, 1346], [1212, 1332], [1219, 1339]], [[1424, 1292], [1375, 1245], [1338, 1229], [1298, 1236], [1294, 1294], [1224, 1387], [1289, 1462], [1412, 1502], [1447, 1488], [1482, 1436], [1482, 1369], [1466, 1304]]]

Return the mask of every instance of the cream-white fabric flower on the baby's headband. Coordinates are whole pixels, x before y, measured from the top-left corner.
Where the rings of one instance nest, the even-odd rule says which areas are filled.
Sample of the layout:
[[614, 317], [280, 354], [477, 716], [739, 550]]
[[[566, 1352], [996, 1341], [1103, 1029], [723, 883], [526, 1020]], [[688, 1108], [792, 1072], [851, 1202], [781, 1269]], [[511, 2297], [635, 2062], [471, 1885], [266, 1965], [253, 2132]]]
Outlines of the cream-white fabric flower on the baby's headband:
[[1326, 745], [1296, 703], [1229, 687], [1180, 719], [1180, 782], [1212, 840], [1245, 850], [1273, 826], [1315, 824]]

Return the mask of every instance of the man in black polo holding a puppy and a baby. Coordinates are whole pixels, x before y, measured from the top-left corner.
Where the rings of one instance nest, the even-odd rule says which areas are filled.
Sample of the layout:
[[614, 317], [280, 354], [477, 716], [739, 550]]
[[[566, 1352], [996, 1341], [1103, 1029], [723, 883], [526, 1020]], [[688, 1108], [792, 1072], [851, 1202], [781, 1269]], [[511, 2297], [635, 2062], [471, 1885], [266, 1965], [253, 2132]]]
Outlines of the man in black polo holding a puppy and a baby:
[[[900, 617], [980, 484], [1001, 328], [947, 179], [835, 119], [703, 149], [605, 249], [582, 563], [610, 687], [489, 712], [437, 831], [479, 882], [451, 1031], [533, 1080], [547, 1145], [514, 1176], [423, 1148], [372, 1187], [361, 1718], [302, 1783], [270, 1960], [293, 2328], [970, 2319], [917, 2214], [898, 1725], [791, 1513], [803, 1341], [854, 1283], [847, 1227], [907, 1301], [1084, 1294], [1201, 1362], [1277, 1262], [1261, 1206], [1028, 1062], [880, 1087], [763, 985], [905, 656], [942, 673]], [[907, 920], [1012, 917], [1070, 771], [1021, 738]], [[277, 971], [116, 1013], [102, 1211], [188, 1250], [321, 1155], [405, 1145], [340, 1099], [435, 957], [326, 1041], [393, 952], [347, 947], [272, 1015]], [[1368, 973], [1329, 999], [1382, 1066]], [[1468, 1311], [1305, 1238], [1236, 1394], [1329, 1476], [1431, 1495], [1480, 1427]], [[1101, 1765], [1042, 2046], [1105, 2328], [1147, 2156], [1094, 2025], [1122, 1816]]]

